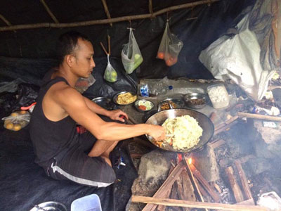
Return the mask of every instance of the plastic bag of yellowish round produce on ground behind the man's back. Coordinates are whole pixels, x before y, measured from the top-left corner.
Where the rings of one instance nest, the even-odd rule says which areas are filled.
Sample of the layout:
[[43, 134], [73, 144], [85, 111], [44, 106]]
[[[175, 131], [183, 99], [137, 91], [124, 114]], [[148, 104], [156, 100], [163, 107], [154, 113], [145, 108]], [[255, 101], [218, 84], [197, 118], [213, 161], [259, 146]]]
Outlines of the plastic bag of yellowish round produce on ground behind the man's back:
[[27, 126], [30, 122], [30, 113], [26, 110], [20, 110], [11, 113], [8, 117], [2, 118], [4, 120], [4, 127], [13, 131], [19, 131], [23, 127]]

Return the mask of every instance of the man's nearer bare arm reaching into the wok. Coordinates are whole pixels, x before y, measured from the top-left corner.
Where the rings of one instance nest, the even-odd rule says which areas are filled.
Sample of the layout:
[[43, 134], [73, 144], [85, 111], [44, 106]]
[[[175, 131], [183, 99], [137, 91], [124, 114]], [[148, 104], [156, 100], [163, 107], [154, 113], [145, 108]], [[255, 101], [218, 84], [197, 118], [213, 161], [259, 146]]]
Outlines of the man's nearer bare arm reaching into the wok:
[[127, 125], [103, 121], [96, 113], [89, 109], [84, 97], [70, 87], [55, 91], [54, 100], [74, 121], [86, 127], [97, 139], [119, 141], [143, 134], [149, 134], [155, 140], [164, 139], [164, 129], [159, 125]]

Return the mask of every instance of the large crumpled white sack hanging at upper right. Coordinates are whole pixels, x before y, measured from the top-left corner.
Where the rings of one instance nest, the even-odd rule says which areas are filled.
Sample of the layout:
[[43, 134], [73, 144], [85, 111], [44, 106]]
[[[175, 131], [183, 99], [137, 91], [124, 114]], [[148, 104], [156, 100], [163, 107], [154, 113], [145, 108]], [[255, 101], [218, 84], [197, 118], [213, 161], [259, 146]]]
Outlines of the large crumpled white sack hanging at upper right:
[[256, 35], [248, 28], [248, 17], [249, 14], [238, 23], [238, 34], [214, 41], [200, 53], [199, 60], [216, 79], [232, 79], [250, 98], [260, 101], [275, 70], [262, 70], [261, 48]]

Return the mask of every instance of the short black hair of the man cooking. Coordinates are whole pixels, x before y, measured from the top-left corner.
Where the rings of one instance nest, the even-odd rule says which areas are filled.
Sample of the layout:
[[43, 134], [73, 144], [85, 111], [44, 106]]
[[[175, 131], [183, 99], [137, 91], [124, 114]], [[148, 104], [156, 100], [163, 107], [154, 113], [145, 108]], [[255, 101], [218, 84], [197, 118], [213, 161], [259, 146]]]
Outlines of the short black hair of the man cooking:
[[63, 59], [65, 58], [65, 56], [74, 52], [74, 49], [77, 47], [79, 38], [90, 41], [90, 39], [84, 34], [75, 31], [65, 32], [64, 34], [60, 35], [57, 44], [57, 56], [59, 65], [63, 63]]

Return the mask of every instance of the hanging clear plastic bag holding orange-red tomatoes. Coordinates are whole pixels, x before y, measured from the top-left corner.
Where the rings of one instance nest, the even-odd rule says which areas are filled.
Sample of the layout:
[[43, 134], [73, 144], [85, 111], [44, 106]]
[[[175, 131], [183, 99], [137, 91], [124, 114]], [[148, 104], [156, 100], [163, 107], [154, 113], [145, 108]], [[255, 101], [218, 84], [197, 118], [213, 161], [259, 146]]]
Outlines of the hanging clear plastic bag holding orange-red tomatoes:
[[166, 23], [166, 28], [157, 52], [157, 58], [164, 59], [167, 66], [177, 63], [178, 54], [183, 48], [183, 41], [178, 39], [175, 34], [171, 34], [169, 23]]

